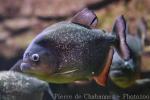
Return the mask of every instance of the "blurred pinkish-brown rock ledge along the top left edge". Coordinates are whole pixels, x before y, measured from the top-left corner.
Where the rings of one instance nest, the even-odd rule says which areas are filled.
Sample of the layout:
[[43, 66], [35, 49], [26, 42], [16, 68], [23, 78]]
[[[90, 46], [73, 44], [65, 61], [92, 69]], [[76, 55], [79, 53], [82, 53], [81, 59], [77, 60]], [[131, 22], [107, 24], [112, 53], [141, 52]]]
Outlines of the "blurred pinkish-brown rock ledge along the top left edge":
[[1, 0], [0, 15], [5, 17], [67, 16], [88, 4], [103, 0]]

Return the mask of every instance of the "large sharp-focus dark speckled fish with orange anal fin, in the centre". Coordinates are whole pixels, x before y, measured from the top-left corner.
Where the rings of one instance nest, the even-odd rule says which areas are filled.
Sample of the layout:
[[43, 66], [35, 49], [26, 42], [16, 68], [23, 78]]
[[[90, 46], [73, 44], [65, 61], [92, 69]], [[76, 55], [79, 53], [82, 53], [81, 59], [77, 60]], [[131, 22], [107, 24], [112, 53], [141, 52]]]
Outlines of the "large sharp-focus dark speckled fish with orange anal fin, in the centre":
[[130, 51], [123, 15], [117, 17], [111, 33], [96, 29], [97, 23], [96, 14], [85, 8], [69, 21], [51, 25], [32, 40], [16, 66], [21, 72], [49, 83], [94, 79], [105, 86], [113, 48], [124, 60], [130, 58]]

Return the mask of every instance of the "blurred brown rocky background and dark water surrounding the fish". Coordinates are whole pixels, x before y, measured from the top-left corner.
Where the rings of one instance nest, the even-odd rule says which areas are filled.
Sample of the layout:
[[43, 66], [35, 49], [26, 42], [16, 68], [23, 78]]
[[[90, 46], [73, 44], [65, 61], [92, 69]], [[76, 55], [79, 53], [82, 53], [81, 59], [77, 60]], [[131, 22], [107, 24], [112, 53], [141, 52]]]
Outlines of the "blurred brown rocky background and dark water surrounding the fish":
[[[110, 78], [106, 87], [93, 80], [83, 84], [50, 84], [56, 99], [149, 100], [150, 0], [0, 0], [0, 70], [9, 70], [21, 59], [27, 45], [44, 28], [69, 20], [86, 7], [98, 16], [97, 28], [111, 32], [115, 18], [123, 14], [129, 33], [140, 34], [144, 42], [138, 75], [144, 80], [137, 80], [140, 85], [127, 88], [117, 86]], [[43, 100], [51, 100], [48, 93]]]

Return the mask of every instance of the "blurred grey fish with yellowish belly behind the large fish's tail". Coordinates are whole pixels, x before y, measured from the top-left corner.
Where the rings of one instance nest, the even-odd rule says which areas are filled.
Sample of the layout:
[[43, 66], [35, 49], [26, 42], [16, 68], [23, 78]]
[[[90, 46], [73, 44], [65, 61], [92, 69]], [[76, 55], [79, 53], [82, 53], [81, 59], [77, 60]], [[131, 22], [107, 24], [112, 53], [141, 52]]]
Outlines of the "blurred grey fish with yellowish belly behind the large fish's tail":
[[115, 51], [109, 77], [112, 82], [120, 88], [128, 88], [135, 85], [136, 80], [140, 79], [141, 55], [143, 53], [143, 43], [141, 37], [129, 34], [126, 30], [126, 41], [129, 47], [130, 60], [123, 60]]

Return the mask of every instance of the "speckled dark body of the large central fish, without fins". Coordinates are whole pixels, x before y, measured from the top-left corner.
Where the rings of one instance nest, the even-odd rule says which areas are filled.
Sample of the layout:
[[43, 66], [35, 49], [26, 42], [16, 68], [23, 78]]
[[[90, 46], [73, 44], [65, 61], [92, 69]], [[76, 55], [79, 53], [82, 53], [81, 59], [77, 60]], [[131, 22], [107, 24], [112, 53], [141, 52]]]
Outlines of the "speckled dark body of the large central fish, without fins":
[[[92, 72], [98, 75], [102, 71], [103, 62], [106, 62], [115, 40], [114, 35], [101, 30], [60, 22], [44, 30], [32, 41], [24, 53], [24, 62], [30, 62], [29, 55], [41, 54], [40, 60], [45, 62], [45, 66], [40, 65], [40, 61], [30, 63], [30, 73], [47, 74], [50, 82], [89, 79]], [[26, 70], [24, 63], [21, 69]]]

